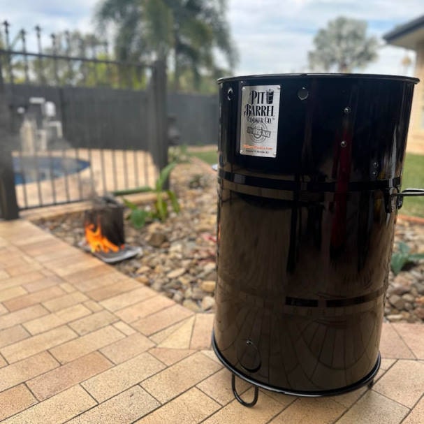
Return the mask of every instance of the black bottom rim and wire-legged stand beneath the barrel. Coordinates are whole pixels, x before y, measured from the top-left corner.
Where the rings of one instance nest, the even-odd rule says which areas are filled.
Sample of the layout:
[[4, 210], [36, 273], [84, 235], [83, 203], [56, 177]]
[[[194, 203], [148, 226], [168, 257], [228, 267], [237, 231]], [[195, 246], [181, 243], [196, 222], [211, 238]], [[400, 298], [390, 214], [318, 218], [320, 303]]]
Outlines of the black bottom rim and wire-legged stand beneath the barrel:
[[[302, 391], [302, 390], [291, 390], [286, 388], [279, 388], [275, 386], [269, 386], [268, 384], [261, 383], [260, 381], [256, 381], [254, 379], [251, 379], [251, 377], [247, 377], [246, 375], [242, 374], [239, 370], [236, 370], [233, 365], [227, 362], [226, 358], [221, 355], [221, 352], [219, 351], [217, 347], [217, 343], [215, 342], [214, 333], [212, 332], [212, 348], [214, 349], [215, 354], [217, 355], [218, 359], [221, 361], [221, 363], [226, 367], [228, 370], [230, 370], [233, 375], [231, 376], [231, 388], [233, 389], [233, 393], [235, 398], [238, 402], [240, 402], [244, 407], [253, 407], [256, 402], [258, 401], [258, 389], [263, 388], [265, 390], [271, 390], [273, 392], [277, 393], [284, 393], [284, 395], [293, 395], [293, 396], [303, 396], [303, 397], [321, 397], [321, 396], [335, 396], [335, 395], [343, 395], [344, 393], [351, 392], [352, 390], [356, 390], [362, 386], [367, 385], [368, 388], [372, 388], [374, 385], [374, 377], [376, 376], [377, 372], [379, 371], [380, 364], [381, 364], [381, 356], [379, 353], [379, 356], [377, 357], [377, 362], [375, 363], [372, 370], [362, 379], [357, 381], [356, 383], [350, 384], [349, 386], [345, 386], [342, 388], [336, 388], [336, 389], [330, 389], [330, 390], [313, 390], [313, 391]], [[237, 393], [237, 390], [235, 388], [235, 377], [239, 377], [240, 379], [247, 381], [247, 383], [251, 383], [252, 386], [254, 386], [255, 392], [254, 392], [254, 400], [251, 402], [245, 402], [242, 400], [240, 395]]]

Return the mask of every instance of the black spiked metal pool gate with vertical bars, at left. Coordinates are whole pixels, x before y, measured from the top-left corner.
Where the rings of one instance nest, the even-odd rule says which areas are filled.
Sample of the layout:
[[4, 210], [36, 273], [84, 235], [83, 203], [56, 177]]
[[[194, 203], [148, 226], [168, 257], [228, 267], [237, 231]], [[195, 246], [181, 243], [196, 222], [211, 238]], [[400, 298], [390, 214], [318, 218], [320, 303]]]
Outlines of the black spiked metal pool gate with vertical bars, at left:
[[43, 49], [40, 27], [29, 52], [3, 27], [0, 217], [152, 186], [168, 160], [165, 64], [112, 60], [66, 31]]

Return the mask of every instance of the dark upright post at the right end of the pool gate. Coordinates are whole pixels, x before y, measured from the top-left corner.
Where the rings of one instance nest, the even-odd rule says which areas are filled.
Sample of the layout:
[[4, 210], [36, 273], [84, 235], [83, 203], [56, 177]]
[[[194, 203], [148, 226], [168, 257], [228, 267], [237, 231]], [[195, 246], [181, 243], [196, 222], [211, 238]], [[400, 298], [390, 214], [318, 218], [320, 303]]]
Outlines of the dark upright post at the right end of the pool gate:
[[[168, 164], [168, 104], [166, 96], [166, 64], [157, 60], [152, 67], [149, 84], [149, 146], [156, 168]], [[164, 184], [168, 189], [169, 182]]]

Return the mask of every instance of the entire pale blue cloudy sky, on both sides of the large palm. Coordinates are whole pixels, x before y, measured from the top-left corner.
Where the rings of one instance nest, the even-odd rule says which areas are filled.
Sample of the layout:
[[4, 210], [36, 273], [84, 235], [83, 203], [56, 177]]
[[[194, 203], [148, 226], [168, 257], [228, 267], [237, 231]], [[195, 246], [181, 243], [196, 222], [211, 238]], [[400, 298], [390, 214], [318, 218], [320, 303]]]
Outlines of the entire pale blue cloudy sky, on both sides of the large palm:
[[[36, 46], [36, 24], [43, 28], [45, 41], [64, 29], [93, 31], [98, 1], [0, 0], [0, 20], [12, 25], [11, 38], [22, 28], [29, 31], [30, 50]], [[368, 34], [381, 42], [379, 59], [359, 72], [414, 75], [414, 66], [401, 64], [405, 54], [414, 61], [414, 52], [384, 45], [381, 36], [423, 15], [423, 0], [227, 0], [227, 5], [240, 55], [233, 75], [308, 71], [307, 52], [313, 50], [314, 35], [339, 15], [366, 20]]]

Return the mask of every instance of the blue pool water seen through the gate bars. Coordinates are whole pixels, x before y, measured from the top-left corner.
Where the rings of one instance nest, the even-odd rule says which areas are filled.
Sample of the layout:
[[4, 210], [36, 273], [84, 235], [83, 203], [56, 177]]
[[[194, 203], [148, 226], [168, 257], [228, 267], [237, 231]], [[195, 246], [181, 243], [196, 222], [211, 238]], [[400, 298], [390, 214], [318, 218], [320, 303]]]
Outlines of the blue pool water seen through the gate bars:
[[90, 165], [82, 159], [53, 156], [20, 156], [13, 158], [15, 184], [50, 180], [79, 173]]

